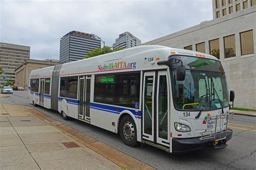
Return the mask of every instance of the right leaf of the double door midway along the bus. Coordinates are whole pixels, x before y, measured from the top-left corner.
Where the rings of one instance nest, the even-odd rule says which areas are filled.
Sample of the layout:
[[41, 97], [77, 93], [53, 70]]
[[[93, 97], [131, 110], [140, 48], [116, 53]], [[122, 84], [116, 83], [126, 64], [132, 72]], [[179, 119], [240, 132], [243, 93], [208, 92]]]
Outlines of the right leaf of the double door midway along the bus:
[[85, 120], [90, 122], [91, 76], [85, 77]]

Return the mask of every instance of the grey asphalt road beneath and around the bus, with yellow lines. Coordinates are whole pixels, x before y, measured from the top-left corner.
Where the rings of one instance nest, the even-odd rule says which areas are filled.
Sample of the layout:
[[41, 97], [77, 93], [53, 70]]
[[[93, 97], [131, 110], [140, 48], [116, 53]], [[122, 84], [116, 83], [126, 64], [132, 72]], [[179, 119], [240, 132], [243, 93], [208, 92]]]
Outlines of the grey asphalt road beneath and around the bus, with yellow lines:
[[143, 145], [129, 147], [122, 143], [115, 133], [72, 119], [64, 121], [57, 111], [43, 107], [33, 107], [28, 102], [26, 91], [14, 91], [9, 97], [0, 98], [0, 103], [26, 105], [68, 124], [103, 143], [116, 148], [131, 157], [145, 162], [157, 169], [255, 169], [256, 167], [256, 117], [234, 115], [230, 122], [233, 137], [225, 149], [205, 148], [183, 155], [169, 154], [158, 148]]

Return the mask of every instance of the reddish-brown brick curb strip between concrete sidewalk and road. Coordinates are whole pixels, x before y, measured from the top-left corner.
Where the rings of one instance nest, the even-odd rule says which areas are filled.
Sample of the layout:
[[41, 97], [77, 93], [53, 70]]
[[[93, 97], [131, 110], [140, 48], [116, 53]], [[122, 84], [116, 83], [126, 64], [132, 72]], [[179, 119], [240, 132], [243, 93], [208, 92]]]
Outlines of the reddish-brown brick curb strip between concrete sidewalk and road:
[[55, 119], [42, 114], [41, 112], [37, 111], [33, 108], [26, 108], [29, 112], [31, 112], [36, 117], [42, 119], [46, 123], [49, 123], [53, 127], [57, 128], [58, 130], [62, 131], [63, 133], [67, 134], [73, 139], [76, 139], [80, 143], [84, 144], [91, 150], [95, 151], [96, 153], [102, 155], [104, 158], [112, 161], [114, 164], [120, 166], [123, 169], [156, 169], [150, 165], [145, 164], [142, 161], [139, 161], [130, 155], [127, 155], [123, 152], [116, 150], [115, 148], [98, 141], [95, 138], [87, 136], [86, 134], [79, 132], [76, 129], [71, 128], [68, 125], [62, 124]]

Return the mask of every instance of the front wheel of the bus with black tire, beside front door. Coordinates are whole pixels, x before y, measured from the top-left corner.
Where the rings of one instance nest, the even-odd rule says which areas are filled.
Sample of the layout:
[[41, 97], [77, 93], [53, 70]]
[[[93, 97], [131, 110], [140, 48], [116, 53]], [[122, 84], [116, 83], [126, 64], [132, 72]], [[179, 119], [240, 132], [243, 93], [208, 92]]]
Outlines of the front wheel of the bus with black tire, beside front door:
[[131, 116], [125, 115], [119, 123], [119, 134], [125, 145], [134, 147], [138, 144], [137, 128]]

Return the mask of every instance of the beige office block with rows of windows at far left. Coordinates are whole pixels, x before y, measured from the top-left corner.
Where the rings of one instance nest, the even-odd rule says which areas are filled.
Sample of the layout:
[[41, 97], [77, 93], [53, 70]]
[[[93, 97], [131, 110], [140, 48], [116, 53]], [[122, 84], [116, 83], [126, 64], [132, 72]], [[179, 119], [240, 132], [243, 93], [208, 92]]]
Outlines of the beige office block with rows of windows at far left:
[[30, 47], [0, 42], [0, 87], [6, 81], [15, 80], [15, 68], [30, 58]]

